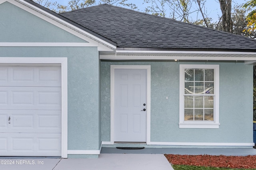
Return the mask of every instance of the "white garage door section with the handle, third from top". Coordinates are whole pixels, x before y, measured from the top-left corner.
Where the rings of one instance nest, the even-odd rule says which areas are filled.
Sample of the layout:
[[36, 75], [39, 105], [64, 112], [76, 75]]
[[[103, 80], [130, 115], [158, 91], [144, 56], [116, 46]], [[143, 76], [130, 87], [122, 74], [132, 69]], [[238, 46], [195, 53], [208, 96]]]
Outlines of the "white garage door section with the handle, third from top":
[[61, 111], [0, 110], [0, 132], [61, 133]]

